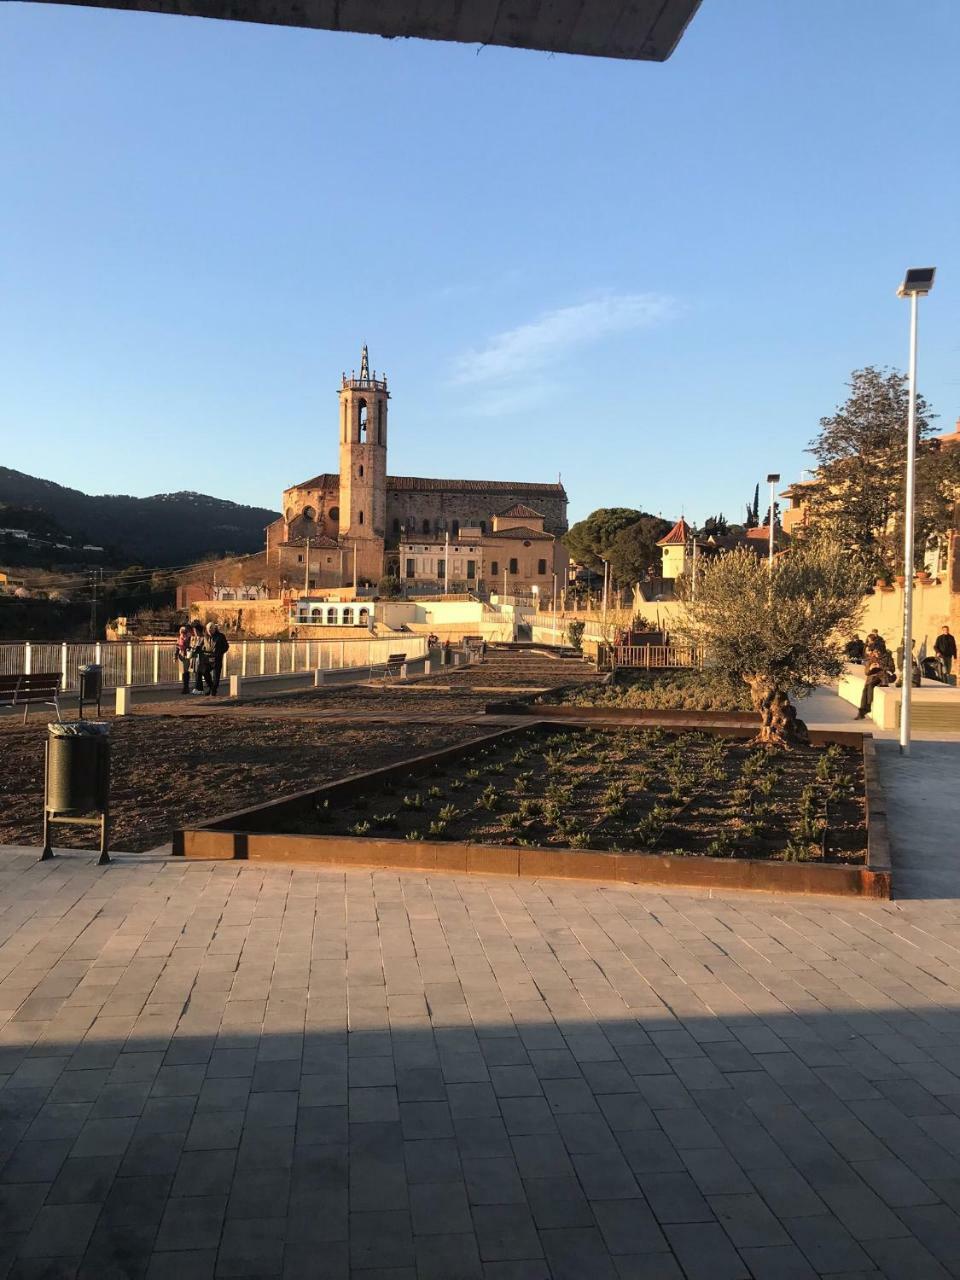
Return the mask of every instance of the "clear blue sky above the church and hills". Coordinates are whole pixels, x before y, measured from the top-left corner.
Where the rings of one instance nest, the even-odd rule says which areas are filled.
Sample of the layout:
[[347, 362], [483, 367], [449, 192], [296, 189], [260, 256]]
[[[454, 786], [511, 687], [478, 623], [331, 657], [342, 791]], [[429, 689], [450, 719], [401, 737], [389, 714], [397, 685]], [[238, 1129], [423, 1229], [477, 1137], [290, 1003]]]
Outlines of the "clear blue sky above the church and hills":
[[906, 266], [960, 415], [957, 65], [956, 0], [703, 0], [663, 64], [0, 5], [0, 463], [279, 508], [366, 342], [392, 474], [742, 518]]

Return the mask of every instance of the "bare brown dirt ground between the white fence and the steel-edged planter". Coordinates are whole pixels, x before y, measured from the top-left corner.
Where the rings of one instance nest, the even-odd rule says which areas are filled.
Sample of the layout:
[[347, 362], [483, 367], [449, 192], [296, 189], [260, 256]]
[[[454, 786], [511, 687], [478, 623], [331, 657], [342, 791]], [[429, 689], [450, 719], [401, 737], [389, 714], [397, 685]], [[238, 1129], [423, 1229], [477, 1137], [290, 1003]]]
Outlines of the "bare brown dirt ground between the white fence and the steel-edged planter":
[[[111, 718], [113, 838], [140, 851], [205, 822], [358, 769], [476, 737], [462, 723], [498, 690], [594, 680], [590, 668], [532, 653], [488, 654], [483, 666], [406, 687], [329, 689], [242, 705], [188, 698]], [[484, 692], [492, 690], [492, 692]], [[392, 723], [371, 723], [378, 716]], [[461, 723], [457, 723], [457, 722]], [[46, 717], [0, 718], [0, 844], [40, 844]], [[58, 827], [55, 844], [92, 845], [83, 828]]]

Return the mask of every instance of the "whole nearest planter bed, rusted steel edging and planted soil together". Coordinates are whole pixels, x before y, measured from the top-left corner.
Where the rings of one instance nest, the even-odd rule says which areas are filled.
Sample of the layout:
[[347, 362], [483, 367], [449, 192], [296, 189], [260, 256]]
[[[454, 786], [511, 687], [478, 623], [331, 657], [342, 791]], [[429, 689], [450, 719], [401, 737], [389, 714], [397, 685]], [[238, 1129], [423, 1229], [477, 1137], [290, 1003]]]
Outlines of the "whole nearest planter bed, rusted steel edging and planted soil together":
[[184, 829], [174, 851], [890, 896], [870, 739], [767, 753], [751, 728], [704, 728], [515, 727]]

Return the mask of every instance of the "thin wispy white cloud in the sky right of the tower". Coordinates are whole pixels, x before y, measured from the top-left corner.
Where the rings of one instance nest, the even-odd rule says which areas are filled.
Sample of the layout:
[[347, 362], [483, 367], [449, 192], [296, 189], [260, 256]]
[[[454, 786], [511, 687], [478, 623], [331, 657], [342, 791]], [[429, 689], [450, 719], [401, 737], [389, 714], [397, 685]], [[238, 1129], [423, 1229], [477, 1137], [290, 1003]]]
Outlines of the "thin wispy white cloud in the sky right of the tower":
[[678, 307], [659, 293], [604, 294], [589, 302], [547, 311], [529, 324], [498, 333], [486, 346], [465, 352], [456, 362], [460, 384], [493, 384], [545, 369], [576, 347], [613, 333], [643, 329], [668, 320]]

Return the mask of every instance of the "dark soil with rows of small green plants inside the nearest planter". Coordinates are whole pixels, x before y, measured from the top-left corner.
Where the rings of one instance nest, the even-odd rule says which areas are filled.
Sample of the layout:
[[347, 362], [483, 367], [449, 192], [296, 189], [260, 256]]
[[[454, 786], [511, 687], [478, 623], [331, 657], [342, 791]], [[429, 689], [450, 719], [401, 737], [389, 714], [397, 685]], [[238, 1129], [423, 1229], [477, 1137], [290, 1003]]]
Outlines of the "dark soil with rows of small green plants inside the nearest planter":
[[530, 731], [289, 831], [861, 863], [861, 756], [662, 730]]

